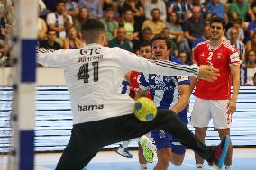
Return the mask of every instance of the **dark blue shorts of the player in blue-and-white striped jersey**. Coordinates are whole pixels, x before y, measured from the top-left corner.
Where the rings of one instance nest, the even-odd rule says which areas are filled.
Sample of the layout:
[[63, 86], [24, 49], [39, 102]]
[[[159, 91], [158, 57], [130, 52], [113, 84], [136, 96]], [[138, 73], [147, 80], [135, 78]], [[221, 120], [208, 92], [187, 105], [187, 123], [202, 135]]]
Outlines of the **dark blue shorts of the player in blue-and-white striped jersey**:
[[[178, 114], [179, 119], [187, 125], [187, 112], [186, 114]], [[186, 152], [184, 145], [178, 142], [174, 136], [164, 130], [152, 130], [151, 138], [154, 139], [157, 150], [163, 148], [171, 148], [171, 151], [176, 154], [183, 155]]]

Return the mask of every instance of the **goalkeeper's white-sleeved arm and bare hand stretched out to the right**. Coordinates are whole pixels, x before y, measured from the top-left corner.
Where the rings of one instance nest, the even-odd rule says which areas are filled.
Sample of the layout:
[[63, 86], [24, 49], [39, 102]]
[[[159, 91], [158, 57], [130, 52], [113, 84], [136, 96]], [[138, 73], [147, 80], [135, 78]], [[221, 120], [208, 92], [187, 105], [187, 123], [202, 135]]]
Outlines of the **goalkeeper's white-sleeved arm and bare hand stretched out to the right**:
[[125, 51], [120, 48], [115, 48], [115, 55], [117, 62], [120, 62], [126, 70], [135, 70], [144, 73], [156, 73], [166, 76], [195, 76], [207, 81], [215, 81], [218, 76], [218, 69], [203, 66], [187, 66], [178, 65], [166, 60], [150, 60], [145, 58], [138, 58], [135, 54]]

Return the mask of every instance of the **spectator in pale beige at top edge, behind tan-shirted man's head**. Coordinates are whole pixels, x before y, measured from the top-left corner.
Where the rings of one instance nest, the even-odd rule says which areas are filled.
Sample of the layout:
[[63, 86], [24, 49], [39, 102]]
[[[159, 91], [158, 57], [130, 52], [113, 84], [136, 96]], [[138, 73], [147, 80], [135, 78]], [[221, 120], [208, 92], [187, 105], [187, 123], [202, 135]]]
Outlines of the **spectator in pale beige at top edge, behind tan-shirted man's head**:
[[152, 19], [153, 9], [159, 9], [160, 20], [166, 22], [166, 5], [162, 0], [148, 0], [144, 4], [145, 16], [147, 20]]

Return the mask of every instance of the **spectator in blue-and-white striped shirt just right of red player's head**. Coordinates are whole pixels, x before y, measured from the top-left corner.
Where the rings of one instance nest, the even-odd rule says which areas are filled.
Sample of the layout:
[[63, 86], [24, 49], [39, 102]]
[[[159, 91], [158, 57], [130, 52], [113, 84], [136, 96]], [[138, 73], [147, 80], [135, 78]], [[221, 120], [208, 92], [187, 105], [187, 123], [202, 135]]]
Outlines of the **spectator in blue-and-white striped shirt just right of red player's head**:
[[245, 46], [244, 44], [239, 41], [238, 39], [238, 30], [236, 28], [232, 28], [230, 30], [230, 43], [238, 49], [239, 57], [242, 62], [245, 62]]

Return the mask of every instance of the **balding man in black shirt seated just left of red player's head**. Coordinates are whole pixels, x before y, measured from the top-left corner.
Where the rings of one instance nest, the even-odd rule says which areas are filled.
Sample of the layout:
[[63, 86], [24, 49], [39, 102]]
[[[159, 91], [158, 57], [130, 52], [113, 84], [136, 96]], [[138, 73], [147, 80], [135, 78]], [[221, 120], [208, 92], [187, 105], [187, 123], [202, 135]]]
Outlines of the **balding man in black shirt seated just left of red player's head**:
[[201, 8], [199, 6], [193, 7], [192, 16], [183, 23], [183, 31], [189, 43], [202, 36], [205, 21], [200, 17], [200, 14]]

